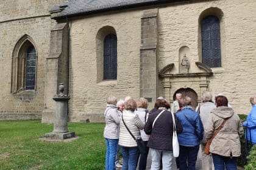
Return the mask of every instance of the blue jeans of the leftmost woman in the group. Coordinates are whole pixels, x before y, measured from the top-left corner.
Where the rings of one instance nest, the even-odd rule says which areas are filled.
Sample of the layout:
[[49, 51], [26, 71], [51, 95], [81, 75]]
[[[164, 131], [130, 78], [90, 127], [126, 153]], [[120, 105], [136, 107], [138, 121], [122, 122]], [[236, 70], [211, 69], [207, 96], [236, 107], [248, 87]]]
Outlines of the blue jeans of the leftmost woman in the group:
[[118, 139], [105, 138], [107, 151], [105, 157], [105, 170], [115, 170], [115, 158], [118, 149]]

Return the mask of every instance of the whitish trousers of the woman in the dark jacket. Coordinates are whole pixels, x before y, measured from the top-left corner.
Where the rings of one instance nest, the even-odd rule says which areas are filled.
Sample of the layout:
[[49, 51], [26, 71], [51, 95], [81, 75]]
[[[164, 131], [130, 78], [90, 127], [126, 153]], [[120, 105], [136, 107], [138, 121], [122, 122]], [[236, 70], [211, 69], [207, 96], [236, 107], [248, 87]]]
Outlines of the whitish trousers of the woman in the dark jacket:
[[[161, 155], [162, 155], [162, 157], [161, 157]], [[160, 169], [161, 160], [163, 163], [163, 169], [171, 169], [172, 158], [173, 158], [172, 151], [163, 151], [163, 150], [151, 148], [151, 157], [152, 157], [151, 170]]]

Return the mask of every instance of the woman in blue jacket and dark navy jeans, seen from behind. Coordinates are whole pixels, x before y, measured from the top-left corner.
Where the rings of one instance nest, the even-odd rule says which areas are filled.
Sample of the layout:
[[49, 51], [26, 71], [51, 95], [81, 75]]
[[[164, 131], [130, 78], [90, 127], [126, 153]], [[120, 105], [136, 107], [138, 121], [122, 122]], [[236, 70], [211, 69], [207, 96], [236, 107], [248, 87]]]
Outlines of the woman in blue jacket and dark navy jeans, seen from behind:
[[199, 145], [204, 135], [204, 127], [197, 112], [191, 106], [191, 98], [183, 97], [180, 99], [182, 109], [176, 112], [177, 118], [182, 124], [183, 131], [178, 134], [180, 154], [180, 170], [193, 170], [196, 167], [197, 153]]

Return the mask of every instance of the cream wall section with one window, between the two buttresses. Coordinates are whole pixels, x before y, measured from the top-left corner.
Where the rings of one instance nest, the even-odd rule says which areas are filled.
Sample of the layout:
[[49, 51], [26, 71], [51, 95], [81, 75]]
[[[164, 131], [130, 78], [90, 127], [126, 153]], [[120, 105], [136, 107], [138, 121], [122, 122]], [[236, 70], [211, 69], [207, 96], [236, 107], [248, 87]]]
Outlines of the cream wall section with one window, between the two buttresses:
[[[71, 23], [69, 104], [71, 121], [102, 121], [108, 95], [140, 97], [141, 12], [80, 18]], [[96, 34], [112, 26], [117, 36], [117, 80], [97, 83]], [[103, 58], [102, 58], [103, 60]]]

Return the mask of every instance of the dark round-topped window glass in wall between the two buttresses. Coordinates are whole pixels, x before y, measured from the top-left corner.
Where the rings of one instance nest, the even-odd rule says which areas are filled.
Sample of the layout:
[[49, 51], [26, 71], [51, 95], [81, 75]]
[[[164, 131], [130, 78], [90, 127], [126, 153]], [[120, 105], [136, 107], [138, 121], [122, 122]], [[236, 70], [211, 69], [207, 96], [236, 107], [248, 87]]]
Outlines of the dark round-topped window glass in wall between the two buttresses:
[[117, 78], [117, 38], [108, 34], [104, 38], [104, 80]]

